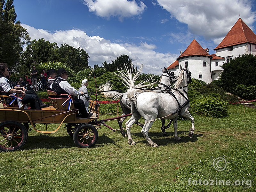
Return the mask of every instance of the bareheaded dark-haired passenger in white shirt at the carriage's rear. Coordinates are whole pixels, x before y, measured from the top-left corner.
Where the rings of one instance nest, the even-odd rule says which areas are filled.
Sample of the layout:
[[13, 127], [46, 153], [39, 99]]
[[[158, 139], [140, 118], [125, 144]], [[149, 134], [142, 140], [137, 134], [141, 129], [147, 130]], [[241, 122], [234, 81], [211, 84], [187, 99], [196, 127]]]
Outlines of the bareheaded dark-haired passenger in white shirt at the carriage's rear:
[[10, 93], [21, 93], [23, 104], [30, 103], [31, 109], [41, 109], [47, 107], [46, 104], [42, 103], [39, 97], [36, 95], [36, 92], [33, 90], [27, 91], [25, 87], [17, 87], [10, 78], [11, 73], [6, 63], [0, 63], [0, 90], [5, 95], [10, 95]]

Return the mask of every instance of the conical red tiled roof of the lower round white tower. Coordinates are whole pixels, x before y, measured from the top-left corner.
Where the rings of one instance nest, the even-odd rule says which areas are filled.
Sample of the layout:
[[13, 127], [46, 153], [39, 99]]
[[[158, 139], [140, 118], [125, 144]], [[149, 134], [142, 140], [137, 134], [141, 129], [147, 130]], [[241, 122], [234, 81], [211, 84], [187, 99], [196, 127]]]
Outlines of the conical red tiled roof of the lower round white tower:
[[206, 52], [199, 43], [197, 43], [196, 39], [188, 45], [188, 48], [180, 55], [180, 57], [178, 57], [178, 59], [188, 55], [210, 56], [210, 54]]

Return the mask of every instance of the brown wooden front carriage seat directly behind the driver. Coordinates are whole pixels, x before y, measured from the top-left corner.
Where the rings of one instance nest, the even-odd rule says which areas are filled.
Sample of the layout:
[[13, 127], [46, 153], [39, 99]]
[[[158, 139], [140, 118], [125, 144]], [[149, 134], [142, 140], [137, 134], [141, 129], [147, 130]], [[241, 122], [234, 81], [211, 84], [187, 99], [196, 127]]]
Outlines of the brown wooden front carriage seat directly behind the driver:
[[[60, 94], [58, 95], [54, 91], [47, 90], [48, 97], [52, 103], [52, 106], [56, 110], [68, 110], [68, 103], [63, 107], [62, 104], [68, 99], [68, 94]], [[74, 104], [71, 104], [70, 109], [75, 109]]]

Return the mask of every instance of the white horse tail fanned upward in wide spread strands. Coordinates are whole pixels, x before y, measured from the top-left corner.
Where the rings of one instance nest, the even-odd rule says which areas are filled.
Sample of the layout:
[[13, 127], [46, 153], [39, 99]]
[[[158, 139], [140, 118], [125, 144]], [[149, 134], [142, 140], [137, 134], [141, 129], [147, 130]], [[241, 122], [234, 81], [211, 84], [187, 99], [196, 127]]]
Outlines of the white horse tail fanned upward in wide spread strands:
[[124, 65], [124, 70], [118, 69], [117, 72], [115, 73], [118, 77], [122, 79], [123, 84], [128, 88], [127, 90], [127, 98], [130, 99], [133, 103], [136, 103], [136, 95], [138, 95], [141, 92], [144, 92], [145, 88], [151, 88], [156, 82], [150, 82], [153, 80], [153, 76], [145, 76], [139, 84], [135, 85], [135, 81], [138, 79], [138, 77], [142, 73], [142, 68], [143, 65], [140, 66], [137, 72], [133, 72], [133, 66], [127, 66]]

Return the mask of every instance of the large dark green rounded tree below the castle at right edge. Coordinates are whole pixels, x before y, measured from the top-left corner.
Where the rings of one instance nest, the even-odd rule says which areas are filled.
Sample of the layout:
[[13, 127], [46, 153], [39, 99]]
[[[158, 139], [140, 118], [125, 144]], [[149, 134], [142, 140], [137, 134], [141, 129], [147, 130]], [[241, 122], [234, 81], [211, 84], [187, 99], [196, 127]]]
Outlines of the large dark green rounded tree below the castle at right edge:
[[238, 84], [256, 85], [256, 56], [244, 54], [224, 63], [221, 81], [224, 89], [232, 92]]

